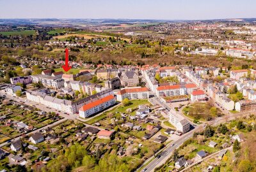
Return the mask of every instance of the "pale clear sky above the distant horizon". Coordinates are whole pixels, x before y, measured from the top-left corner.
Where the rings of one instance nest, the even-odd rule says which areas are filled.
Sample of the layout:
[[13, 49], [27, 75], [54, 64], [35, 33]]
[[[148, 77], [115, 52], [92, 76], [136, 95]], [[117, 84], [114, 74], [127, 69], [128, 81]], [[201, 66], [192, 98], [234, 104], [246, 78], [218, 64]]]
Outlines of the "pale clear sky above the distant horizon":
[[256, 18], [255, 0], [0, 0], [0, 18]]

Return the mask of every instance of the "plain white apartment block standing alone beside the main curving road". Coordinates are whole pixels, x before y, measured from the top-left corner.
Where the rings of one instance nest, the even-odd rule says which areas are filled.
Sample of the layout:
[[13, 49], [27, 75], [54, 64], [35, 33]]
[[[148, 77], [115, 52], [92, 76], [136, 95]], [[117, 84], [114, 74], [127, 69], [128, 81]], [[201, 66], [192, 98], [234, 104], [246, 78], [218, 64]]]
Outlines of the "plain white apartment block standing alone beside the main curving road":
[[182, 115], [175, 110], [169, 111], [169, 122], [176, 127], [177, 131], [187, 133], [190, 130], [190, 124]]

